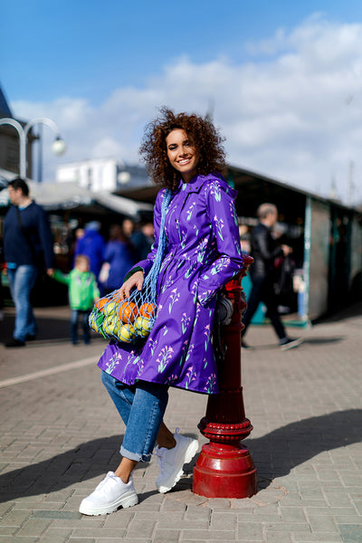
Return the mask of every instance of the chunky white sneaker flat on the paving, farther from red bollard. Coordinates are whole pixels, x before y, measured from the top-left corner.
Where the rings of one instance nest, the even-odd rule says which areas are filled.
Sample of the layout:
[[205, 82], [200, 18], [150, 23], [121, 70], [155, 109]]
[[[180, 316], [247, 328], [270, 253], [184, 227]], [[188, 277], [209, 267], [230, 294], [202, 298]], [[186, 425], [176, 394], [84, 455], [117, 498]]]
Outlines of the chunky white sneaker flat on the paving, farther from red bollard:
[[80, 513], [83, 515], [106, 515], [119, 509], [138, 504], [138, 495], [132, 477], [126, 484], [114, 472], [108, 472], [105, 479], [87, 498], [81, 500]]

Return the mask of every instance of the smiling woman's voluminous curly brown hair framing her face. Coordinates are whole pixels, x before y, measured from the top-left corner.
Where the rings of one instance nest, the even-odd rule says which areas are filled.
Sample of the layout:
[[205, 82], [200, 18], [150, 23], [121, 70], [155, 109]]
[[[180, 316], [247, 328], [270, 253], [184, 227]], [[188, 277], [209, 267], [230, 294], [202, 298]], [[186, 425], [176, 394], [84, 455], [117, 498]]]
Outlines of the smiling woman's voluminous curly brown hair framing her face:
[[195, 113], [175, 114], [173, 110], [164, 107], [160, 110], [160, 116], [147, 125], [139, 148], [148, 175], [155, 183], [175, 190], [181, 179], [181, 174], [171, 166], [167, 157], [166, 138], [175, 129], [185, 130], [191, 145], [199, 152], [198, 174], [205, 176], [224, 170], [224, 137], [214, 128], [210, 119]]

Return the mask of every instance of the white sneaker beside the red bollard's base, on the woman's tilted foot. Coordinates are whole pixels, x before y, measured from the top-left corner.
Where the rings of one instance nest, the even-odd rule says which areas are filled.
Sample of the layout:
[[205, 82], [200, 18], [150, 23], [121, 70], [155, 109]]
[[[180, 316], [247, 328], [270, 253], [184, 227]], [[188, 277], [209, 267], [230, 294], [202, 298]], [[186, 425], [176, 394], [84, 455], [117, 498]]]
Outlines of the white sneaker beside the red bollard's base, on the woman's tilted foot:
[[183, 472], [183, 465], [191, 462], [198, 449], [198, 441], [191, 437], [185, 437], [178, 433], [174, 433], [176, 446], [173, 449], [166, 447], [156, 448], [157, 463], [161, 467], [161, 472], [157, 477], [156, 486], [158, 492], [165, 494], [170, 491], [179, 481]]

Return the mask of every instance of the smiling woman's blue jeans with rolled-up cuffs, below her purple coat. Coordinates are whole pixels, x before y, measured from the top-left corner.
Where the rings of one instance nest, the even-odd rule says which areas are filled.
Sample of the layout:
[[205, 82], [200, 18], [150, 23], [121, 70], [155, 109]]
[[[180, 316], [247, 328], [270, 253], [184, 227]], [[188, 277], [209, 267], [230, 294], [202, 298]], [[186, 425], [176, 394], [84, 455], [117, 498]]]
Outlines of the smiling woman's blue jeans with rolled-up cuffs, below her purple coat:
[[101, 380], [126, 424], [121, 455], [136, 462], [149, 462], [166, 411], [168, 386], [147, 381], [129, 386], [105, 371]]

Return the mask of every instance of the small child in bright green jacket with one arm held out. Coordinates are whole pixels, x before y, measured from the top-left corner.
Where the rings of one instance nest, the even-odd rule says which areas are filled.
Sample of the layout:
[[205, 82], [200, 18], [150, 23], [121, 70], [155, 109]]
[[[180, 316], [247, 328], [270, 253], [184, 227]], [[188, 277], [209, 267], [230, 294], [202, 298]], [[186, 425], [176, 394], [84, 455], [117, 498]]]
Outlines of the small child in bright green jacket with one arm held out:
[[90, 344], [90, 327], [88, 318], [93, 304], [100, 298], [95, 275], [90, 271], [90, 259], [84, 254], [75, 258], [74, 269], [65, 274], [55, 270], [52, 278], [69, 285], [69, 301], [71, 304], [71, 343], [78, 343], [78, 320], [81, 315], [83, 341]]

